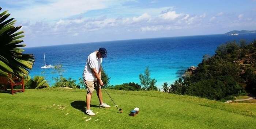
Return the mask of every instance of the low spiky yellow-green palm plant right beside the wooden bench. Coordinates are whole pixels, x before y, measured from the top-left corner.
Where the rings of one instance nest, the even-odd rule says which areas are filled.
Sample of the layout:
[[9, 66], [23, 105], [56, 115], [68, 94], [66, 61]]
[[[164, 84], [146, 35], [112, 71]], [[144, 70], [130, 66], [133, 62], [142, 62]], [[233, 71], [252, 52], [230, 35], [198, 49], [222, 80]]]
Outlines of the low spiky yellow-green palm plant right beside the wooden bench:
[[49, 87], [49, 84], [42, 76], [35, 76], [33, 79], [28, 75], [25, 79], [25, 87], [28, 89], [42, 89]]

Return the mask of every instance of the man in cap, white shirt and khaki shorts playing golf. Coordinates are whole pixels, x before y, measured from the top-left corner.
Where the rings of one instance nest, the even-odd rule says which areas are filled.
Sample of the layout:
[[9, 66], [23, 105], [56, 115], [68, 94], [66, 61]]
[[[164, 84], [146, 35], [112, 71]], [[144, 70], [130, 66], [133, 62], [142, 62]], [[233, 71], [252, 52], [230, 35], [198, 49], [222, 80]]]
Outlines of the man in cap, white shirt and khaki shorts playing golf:
[[90, 116], [94, 116], [95, 113], [90, 109], [91, 97], [93, 95], [94, 88], [97, 91], [99, 98], [99, 107], [110, 107], [106, 103], [103, 103], [101, 86], [104, 86], [101, 80], [101, 63], [102, 58], [107, 57], [107, 50], [105, 48], [99, 48], [98, 51], [91, 53], [87, 60], [83, 71], [83, 80], [86, 85], [86, 113]]

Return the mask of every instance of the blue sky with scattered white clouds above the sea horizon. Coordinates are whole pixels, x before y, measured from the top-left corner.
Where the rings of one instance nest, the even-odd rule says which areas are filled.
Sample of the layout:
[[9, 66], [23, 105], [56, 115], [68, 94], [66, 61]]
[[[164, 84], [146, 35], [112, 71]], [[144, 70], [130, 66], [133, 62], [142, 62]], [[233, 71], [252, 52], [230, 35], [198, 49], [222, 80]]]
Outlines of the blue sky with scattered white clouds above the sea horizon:
[[0, 0], [27, 47], [256, 30], [256, 0]]

